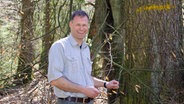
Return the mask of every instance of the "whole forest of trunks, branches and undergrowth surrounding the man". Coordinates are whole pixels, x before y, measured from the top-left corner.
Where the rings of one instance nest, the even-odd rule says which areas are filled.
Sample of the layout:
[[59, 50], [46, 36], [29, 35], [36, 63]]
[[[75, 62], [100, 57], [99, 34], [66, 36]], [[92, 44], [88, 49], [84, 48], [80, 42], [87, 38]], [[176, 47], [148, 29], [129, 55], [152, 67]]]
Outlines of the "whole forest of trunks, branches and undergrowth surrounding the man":
[[74, 10], [90, 16], [92, 74], [116, 79], [95, 104], [183, 104], [183, 0], [0, 0], [0, 103], [53, 104], [51, 44]]

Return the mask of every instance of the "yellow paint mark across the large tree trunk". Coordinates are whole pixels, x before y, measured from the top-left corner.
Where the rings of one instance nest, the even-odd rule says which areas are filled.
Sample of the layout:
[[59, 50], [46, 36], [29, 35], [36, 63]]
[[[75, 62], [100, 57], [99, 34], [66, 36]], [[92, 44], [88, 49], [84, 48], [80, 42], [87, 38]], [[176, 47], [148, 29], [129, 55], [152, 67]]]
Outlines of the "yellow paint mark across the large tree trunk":
[[170, 10], [172, 8], [175, 8], [175, 6], [172, 6], [170, 4], [166, 5], [149, 5], [149, 6], [142, 6], [137, 8], [136, 12], [142, 12], [142, 11], [151, 11], [151, 10]]

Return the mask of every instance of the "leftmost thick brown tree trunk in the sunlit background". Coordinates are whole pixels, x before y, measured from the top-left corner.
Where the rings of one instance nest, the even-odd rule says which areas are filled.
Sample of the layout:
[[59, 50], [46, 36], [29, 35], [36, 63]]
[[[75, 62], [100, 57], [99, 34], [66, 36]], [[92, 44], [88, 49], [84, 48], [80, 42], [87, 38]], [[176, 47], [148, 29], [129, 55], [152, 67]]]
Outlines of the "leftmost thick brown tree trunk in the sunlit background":
[[16, 83], [25, 84], [32, 80], [32, 68], [34, 61], [33, 34], [33, 13], [34, 4], [32, 0], [22, 0], [20, 44], [18, 56], [18, 68]]

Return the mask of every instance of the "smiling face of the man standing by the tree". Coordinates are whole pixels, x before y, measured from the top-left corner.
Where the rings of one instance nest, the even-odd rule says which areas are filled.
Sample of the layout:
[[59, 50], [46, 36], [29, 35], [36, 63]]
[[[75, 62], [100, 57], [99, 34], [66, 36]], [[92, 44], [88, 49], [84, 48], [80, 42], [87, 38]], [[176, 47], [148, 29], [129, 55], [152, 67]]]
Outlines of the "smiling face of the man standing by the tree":
[[88, 32], [88, 23], [89, 20], [86, 16], [76, 16], [70, 21], [71, 34], [77, 41], [82, 41], [85, 38]]

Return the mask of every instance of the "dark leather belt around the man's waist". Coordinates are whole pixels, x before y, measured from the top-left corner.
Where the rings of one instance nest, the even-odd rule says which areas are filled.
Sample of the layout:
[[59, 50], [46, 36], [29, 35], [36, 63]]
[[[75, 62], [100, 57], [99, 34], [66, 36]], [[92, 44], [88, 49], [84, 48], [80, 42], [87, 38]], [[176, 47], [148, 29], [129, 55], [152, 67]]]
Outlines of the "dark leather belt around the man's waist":
[[70, 102], [80, 102], [80, 103], [89, 103], [93, 98], [78, 98], [78, 97], [66, 97], [66, 98], [59, 98], [61, 100], [70, 101]]

